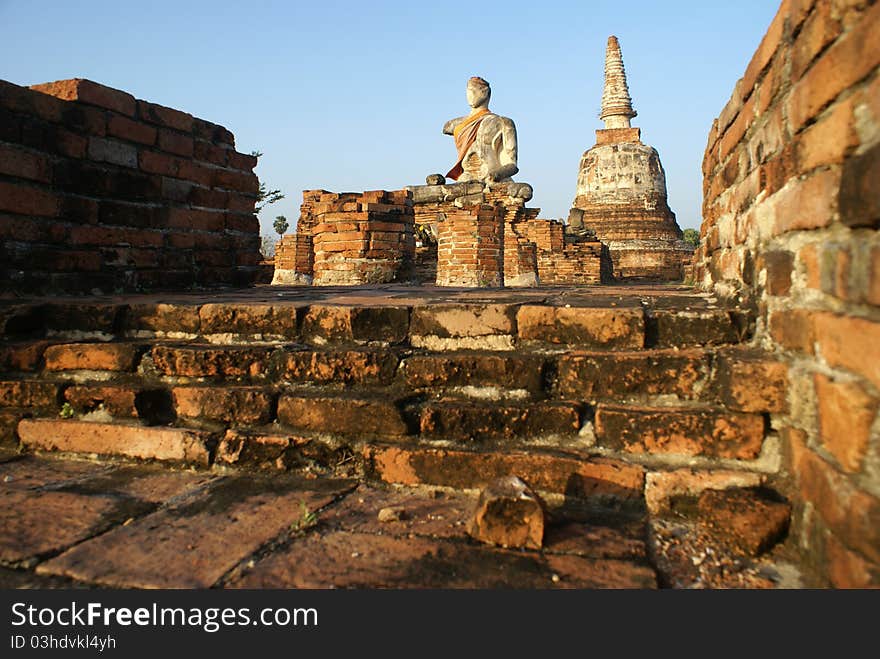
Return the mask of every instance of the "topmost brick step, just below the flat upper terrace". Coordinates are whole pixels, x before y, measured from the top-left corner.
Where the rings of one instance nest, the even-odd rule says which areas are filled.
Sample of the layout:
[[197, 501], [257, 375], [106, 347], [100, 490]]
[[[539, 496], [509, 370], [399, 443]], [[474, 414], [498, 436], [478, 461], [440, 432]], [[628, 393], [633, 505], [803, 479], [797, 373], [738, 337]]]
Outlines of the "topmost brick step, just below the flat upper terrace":
[[693, 297], [656, 301], [596, 297], [573, 304], [431, 303], [400, 306], [274, 303], [41, 302], [0, 307], [0, 336], [30, 338], [200, 339], [211, 343], [300, 342], [400, 345], [434, 351], [575, 346], [593, 350], [734, 344], [748, 332], [738, 311]]

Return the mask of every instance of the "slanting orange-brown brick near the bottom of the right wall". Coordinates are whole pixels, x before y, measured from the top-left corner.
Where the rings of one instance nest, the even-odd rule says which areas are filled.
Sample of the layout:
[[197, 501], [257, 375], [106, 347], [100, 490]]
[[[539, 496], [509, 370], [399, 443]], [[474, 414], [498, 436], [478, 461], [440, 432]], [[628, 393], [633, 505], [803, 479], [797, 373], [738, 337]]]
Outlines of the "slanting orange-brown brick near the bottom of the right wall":
[[798, 438], [792, 438], [791, 452], [801, 498], [843, 544], [880, 562], [880, 499], [855, 487]]

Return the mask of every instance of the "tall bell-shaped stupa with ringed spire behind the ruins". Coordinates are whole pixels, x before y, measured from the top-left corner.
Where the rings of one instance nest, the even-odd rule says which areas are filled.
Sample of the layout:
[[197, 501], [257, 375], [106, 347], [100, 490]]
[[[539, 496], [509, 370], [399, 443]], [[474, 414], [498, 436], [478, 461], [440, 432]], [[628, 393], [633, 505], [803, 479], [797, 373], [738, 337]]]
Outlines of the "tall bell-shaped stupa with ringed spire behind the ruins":
[[618, 279], [678, 280], [693, 248], [666, 202], [657, 150], [641, 141], [617, 37], [608, 38], [596, 144], [581, 158], [571, 231], [591, 230], [608, 246]]

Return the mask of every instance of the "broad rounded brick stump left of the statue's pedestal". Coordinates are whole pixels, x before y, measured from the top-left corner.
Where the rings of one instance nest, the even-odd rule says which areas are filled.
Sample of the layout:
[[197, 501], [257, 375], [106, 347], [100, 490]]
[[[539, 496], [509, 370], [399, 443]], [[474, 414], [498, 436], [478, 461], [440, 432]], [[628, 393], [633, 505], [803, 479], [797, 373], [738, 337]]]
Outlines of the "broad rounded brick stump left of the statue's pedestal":
[[412, 195], [406, 190], [324, 193], [310, 210], [316, 285], [408, 280], [415, 259]]

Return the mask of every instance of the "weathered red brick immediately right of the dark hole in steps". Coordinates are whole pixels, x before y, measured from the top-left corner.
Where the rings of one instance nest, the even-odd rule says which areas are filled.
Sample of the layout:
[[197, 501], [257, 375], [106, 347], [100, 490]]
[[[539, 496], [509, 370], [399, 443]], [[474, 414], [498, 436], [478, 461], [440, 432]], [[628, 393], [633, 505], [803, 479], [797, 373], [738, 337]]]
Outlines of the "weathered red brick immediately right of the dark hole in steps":
[[172, 394], [178, 416], [230, 423], [272, 420], [273, 396], [258, 387], [175, 387]]

